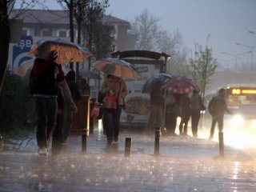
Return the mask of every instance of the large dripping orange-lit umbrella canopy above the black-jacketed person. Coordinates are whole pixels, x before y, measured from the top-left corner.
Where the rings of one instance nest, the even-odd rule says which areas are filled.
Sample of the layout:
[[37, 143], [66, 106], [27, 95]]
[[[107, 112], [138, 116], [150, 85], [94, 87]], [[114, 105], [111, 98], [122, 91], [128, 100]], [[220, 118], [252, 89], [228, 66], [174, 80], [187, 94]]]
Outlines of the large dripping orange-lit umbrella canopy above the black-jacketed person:
[[49, 59], [50, 52], [55, 51], [56, 63], [84, 62], [91, 56], [90, 51], [84, 46], [74, 42], [66, 42], [62, 39], [41, 39], [31, 47], [30, 54], [38, 58]]

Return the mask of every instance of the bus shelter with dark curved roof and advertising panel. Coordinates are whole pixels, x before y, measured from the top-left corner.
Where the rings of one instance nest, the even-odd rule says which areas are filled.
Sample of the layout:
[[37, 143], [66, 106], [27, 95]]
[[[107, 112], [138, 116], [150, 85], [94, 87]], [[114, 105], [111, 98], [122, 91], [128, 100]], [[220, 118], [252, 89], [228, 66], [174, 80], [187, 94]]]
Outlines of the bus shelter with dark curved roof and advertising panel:
[[126, 96], [126, 110], [122, 111], [120, 128], [129, 130], [144, 130], [150, 114], [150, 94], [142, 93], [142, 86], [153, 74], [165, 73], [169, 54], [149, 50], [126, 50], [111, 54], [133, 64], [142, 78], [126, 80], [129, 94]]

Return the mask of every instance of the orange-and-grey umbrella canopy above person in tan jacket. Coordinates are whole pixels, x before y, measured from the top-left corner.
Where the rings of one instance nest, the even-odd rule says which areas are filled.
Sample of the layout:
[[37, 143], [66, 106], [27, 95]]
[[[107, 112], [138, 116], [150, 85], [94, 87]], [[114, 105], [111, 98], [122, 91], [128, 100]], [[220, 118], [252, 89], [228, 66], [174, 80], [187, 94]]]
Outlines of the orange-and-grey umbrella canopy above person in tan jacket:
[[105, 74], [111, 74], [118, 78], [142, 78], [142, 75], [130, 62], [118, 58], [103, 58], [94, 62], [93, 66], [96, 70], [101, 70]]

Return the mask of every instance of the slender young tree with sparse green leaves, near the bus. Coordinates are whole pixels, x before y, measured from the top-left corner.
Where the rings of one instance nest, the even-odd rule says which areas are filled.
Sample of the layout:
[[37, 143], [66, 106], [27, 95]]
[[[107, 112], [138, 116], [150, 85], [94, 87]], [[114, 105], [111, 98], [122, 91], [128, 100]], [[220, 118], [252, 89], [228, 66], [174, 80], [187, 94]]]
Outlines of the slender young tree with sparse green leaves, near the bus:
[[202, 50], [202, 46], [196, 45], [194, 58], [190, 58], [190, 76], [197, 82], [202, 98], [205, 98], [206, 89], [210, 87], [211, 77], [217, 68], [217, 60], [212, 57], [212, 49], [206, 48]]

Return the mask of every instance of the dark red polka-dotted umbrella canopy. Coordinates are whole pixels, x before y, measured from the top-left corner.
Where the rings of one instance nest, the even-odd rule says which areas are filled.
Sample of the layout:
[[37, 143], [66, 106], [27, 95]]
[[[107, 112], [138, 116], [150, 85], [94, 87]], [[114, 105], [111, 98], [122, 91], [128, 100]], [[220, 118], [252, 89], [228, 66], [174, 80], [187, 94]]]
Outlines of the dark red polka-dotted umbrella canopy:
[[189, 94], [192, 90], [198, 90], [198, 86], [191, 78], [174, 76], [163, 86], [173, 94]]

